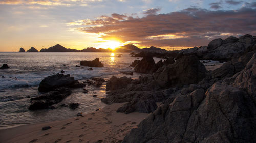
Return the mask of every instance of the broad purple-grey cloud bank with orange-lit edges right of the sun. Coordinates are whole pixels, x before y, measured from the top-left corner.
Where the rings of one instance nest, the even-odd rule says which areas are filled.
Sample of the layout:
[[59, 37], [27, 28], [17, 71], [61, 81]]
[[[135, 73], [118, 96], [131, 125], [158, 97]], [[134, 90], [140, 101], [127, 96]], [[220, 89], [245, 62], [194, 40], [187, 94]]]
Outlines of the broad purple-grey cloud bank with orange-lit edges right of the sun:
[[200, 46], [214, 38], [230, 35], [256, 35], [256, 9], [210, 11], [188, 8], [167, 14], [146, 15], [141, 18], [121, 14], [101, 16], [96, 20], [80, 20], [77, 29], [101, 34], [108, 40], [138, 41], [141, 46]]

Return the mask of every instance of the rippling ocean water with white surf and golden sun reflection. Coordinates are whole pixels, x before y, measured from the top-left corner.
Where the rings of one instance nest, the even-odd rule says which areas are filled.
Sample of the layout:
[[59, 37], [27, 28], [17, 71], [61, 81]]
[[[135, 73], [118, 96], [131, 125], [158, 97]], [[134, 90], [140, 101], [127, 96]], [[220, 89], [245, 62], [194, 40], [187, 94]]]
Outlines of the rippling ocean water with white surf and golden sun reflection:
[[[120, 56], [120, 57], [118, 57]], [[81, 60], [99, 58], [104, 67], [81, 68]], [[29, 97], [37, 97], [38, 85], [47, 76], [65, 71], [83, 82], [92, 77], [109, 80], [113, 75], [127, 76], [133, 79], [141, 74], [120, 74], [120, 71], [133, 71], [129, 65], [135, 60], [129, 53], [78, 53], [78, 52], [0, 52], [0, 64], [8, 64], [10, 69], [0, 70], [0, 128], [10, 125], [47, 122], [75, 117], [78, 112], [90, 113], [105, 106], [100, 98], [106, 95], [105, 85], [99, 88], [86, 87], [88, 93], [81, 88], [73, 89], [72, 94], [62, 102], [55, 104], [57, 109], [30, 111]], [[154, 58], [158, 62], [160, 58]], [[97, 95], [93, 97], [92, 95]], [[62, 107], [61, 104], [79, 103], [77, 109]]]

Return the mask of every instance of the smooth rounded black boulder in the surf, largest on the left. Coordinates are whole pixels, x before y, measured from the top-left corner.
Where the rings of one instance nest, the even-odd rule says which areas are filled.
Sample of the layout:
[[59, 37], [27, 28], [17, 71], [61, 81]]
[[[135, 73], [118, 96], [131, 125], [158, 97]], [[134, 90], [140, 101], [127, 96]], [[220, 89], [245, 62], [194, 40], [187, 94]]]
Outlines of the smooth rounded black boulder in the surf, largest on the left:
[[70, 77], [69, 74], [55, 74], [43, 79], [38, 87], [39, 92], [48, 92], [59, 87], [72, 85], [75, 83], [74, 77]]

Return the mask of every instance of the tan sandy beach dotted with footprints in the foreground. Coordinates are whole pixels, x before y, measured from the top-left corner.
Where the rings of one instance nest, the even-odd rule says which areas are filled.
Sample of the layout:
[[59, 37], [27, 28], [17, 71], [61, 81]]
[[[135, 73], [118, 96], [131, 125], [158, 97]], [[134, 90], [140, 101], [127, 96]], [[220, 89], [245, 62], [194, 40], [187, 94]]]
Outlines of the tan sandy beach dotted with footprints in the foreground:
[[[62, 121], [22, 125], [0, 130], [0, 142], [121, 142], [147, 113], [117, 113], [125, 103]], [[42, 127], [51, 129], [42, 130]]]

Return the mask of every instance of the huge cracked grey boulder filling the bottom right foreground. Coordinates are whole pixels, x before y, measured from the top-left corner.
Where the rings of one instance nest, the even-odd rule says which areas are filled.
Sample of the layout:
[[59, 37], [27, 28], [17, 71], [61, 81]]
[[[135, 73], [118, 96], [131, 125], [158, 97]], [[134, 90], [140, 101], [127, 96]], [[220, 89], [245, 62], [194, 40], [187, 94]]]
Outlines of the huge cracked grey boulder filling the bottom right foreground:
[[162, 104], [126, 142], [255, 142], [255, 104], [244, 91], [215, 83]]

